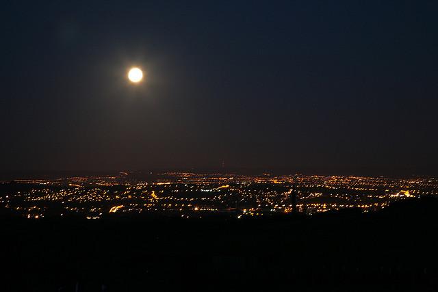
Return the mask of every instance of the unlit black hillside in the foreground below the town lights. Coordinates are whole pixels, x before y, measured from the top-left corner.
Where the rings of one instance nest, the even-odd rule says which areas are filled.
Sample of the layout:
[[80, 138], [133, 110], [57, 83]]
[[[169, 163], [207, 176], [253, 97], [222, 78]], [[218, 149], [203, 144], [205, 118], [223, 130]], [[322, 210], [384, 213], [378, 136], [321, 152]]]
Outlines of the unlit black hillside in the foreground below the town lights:
[[437, 208], [428, 198], [257, 220], [3, 215], [0, 291], [437, 291]]

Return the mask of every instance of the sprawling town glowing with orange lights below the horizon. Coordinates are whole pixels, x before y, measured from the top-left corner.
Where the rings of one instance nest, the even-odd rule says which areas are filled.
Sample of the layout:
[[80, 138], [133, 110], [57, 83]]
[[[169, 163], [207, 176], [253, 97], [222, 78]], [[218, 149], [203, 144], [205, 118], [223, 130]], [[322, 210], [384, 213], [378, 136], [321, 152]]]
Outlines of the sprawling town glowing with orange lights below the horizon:
[[437, 178], [198, 174], [166, 172], [150, 179], [114, 176], [18, 179], [1, 183], [1, 209], [29, 219], [114, 215], [235, 218], [313, 215], [438, 195]]

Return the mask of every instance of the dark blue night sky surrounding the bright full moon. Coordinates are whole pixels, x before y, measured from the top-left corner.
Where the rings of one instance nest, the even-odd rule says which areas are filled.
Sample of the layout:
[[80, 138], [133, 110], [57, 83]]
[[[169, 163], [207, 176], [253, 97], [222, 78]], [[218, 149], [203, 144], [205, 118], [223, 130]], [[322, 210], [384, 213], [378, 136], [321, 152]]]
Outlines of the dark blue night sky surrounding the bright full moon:
[[438, 1], [9, 2], [3, 172], [438, 174]]

